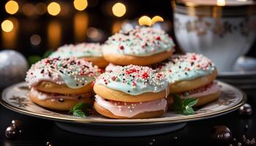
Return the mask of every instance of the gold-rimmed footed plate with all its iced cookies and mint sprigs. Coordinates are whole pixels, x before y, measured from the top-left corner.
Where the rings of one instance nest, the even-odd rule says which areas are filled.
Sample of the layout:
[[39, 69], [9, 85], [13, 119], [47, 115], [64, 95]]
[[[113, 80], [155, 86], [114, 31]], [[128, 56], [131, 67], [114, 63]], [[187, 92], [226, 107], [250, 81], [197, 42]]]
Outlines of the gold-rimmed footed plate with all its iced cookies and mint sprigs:
[[173, 52], [171, 37], [151, 27], [119, 31], [103, 45], [64, 45], [32, 65], [26, 82], [6, 88], [1, 104], [67, 131], [135, 137], [176, 131], [245, 103], [243, 92], [215, 80], [208, 58]]

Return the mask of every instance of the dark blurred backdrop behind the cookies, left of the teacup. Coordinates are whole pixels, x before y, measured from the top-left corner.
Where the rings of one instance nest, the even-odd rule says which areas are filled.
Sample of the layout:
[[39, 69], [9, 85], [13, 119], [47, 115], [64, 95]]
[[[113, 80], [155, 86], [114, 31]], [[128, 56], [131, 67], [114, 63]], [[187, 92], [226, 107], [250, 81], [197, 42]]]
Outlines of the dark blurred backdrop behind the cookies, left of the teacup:
[[[128, 20], [137, 22], [138, 18], [143, 15], [150, 18], [159, 15], [164, 18], [167, 32], [173, 36], [172, 7], [169, 0], [88, 0], [88, 7], [83, 11], [75, 9], [71, 0], [56, 1], [61, 5], [61, 12], [56, 16], [49, 15], [47, 9], [42, 15], [39, 15], [36, 10], [37, 4], [47, 7], [52, 1], [20, 0], [18, 1], [19, 10], [14, 15], [5, 11], [6, 2], [6, 0], [0, 1], [0, 22], [7, 19], [12, 20], [14, 28], [9, 33], [1, 31], [0, 50], [18, 50], [26, 57], [42, 55], [46, 50], [56, 50], [57, 47], [68, 43], [104, 42], [108, 36], [121, 28], [122, 23]], [[111, 11], [111, 7], [116, 2], [125, 4], [127, 8], [127, 12], [121, 18], [114, 16]], [[75, 18], [78, 18], [77, 23], [82, 26], [75, 26]], [[80, 31], [79, 34], [75, 32], [75, 28]], [[99, 32], [98, 38], [88, 36], [88, 33], [92, 32], [91, 30], [95, 31], [94, 28]], [[34, 34], [41, 39], [39, 45], [31, 44], [31, 37]], [[173, 38], [175, 39], [175, 37]], [[255, 45], [252, 48], [254, 47]], [[179, 50], [178, 45], [177, 50]], [[251, 49], [247, 55], [255, 56], [256, 53], [254, 49]]]

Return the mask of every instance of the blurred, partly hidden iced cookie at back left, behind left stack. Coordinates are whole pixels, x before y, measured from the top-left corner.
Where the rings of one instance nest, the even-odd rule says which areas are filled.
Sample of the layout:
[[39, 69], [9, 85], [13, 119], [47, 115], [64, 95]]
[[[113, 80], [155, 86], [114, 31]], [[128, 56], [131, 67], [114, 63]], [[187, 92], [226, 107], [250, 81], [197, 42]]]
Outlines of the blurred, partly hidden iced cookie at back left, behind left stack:
[[102, 57], [102, 46], [99, 43], [83, 42], [78, 45], [63, 45], [53, 52], [50, 58], [84, 58], [86, 61], [91, 61], [92, 64], [105, 68], [108, 62]]

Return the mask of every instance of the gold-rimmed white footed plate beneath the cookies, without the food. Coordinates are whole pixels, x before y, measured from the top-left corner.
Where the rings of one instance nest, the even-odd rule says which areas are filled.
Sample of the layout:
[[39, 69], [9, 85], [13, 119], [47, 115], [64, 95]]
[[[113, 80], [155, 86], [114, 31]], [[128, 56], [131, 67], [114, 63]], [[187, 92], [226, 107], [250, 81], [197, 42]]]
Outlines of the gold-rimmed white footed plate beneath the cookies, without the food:
[[[217, 101], [204, 107], [200, 107], [196, 110], [195, 115], [179, 115], [167, 111], [165, 115], [160, 118], [148, 119], [117, 120], [105, 118], [101, 115], [78, 118], [69, 115], [67, 112], [46, 110], [31, 102], [29, 99], [29, 88], [25, 82], [20, 82], [6, 88], [1, 96], [1, 104], [15, 112], [38, 118], [55, 120], [58, 122], [57, 126], [60, 128], [80, 134], [108, 137], [145, 136], [177, 130], [178, 128], [185, 126], [184, 123], [187, 121], [201, 120], [223, 115], [227, 112], [236, 110], [245, 103], [246, 96], [244, 93], [224, 82], [217, 82], [221, 85], [221, 96], [219, 96]], [[149, 129], [148, 126], [150, 126]]]

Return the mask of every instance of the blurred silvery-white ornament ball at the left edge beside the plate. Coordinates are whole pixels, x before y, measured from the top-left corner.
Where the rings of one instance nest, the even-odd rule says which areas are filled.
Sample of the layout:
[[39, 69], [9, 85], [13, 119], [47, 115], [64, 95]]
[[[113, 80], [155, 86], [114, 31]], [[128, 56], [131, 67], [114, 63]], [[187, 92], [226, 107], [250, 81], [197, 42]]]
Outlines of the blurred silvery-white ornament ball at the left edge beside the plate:
[[0, 51], [0, 89], [23, 81], [28, 70], [26, 58], [15, 50]]

